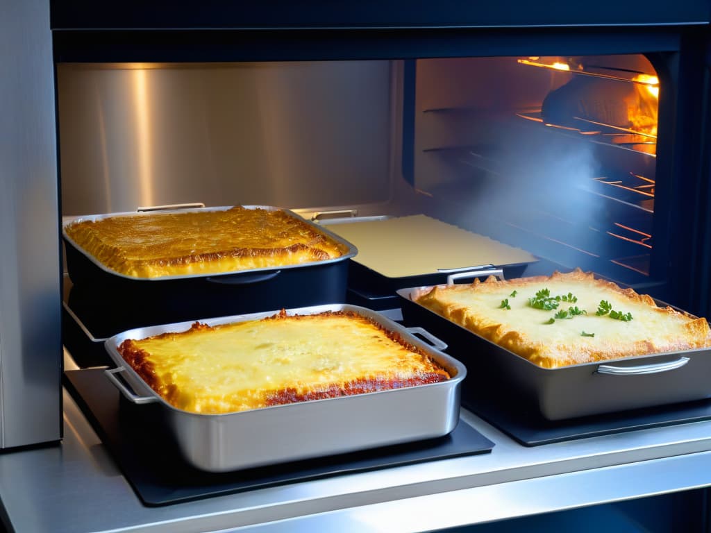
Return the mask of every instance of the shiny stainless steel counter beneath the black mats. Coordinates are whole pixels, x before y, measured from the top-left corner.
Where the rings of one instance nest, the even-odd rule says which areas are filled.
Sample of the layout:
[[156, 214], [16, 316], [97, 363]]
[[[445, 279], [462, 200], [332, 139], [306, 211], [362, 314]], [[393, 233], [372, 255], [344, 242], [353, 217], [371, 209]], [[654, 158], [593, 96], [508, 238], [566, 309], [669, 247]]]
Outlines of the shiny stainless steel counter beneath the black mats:
[[533, 448], [461, 421], [493, 451], [146, 507], [65, 391], [63, 441], [0, 454], [0, 500], [18, 532], [423, 532], [711, 485], [711, 421]]

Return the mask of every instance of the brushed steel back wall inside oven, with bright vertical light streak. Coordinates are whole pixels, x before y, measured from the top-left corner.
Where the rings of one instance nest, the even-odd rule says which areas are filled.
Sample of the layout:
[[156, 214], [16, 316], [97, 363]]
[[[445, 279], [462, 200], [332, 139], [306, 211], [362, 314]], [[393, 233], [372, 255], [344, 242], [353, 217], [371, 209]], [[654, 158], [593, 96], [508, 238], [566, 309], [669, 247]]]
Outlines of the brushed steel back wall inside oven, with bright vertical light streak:
[[58, 65], [65, 215], [390, 197], [388, 61]]

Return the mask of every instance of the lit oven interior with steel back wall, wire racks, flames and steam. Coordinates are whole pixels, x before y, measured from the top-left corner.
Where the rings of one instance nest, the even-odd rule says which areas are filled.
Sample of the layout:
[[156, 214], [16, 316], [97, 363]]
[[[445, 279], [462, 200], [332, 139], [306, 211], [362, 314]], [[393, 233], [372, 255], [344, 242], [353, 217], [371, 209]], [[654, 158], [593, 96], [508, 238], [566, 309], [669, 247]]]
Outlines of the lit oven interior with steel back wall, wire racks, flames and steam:
[[668, 275], [664, 68], [643, 54], [60, 63], [62, 212], [424, 213], [530, 252], [523, 275], [580, 267], [653, 292]]

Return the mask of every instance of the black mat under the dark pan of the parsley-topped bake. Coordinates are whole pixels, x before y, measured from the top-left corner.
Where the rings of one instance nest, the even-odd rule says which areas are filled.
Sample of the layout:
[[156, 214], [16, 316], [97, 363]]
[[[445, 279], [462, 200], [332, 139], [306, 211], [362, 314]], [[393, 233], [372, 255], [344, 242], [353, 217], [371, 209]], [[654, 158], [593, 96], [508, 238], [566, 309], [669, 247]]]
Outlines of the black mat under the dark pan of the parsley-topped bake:
[[505, 399], [492, 401], [486, 395], [464, 394], [462, 405], [524, 446], [711, 419], [711, 399], [558, 421], [526, 412], [521, 404], [506, 404]]

